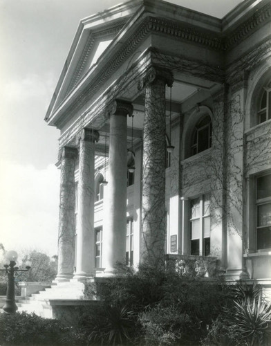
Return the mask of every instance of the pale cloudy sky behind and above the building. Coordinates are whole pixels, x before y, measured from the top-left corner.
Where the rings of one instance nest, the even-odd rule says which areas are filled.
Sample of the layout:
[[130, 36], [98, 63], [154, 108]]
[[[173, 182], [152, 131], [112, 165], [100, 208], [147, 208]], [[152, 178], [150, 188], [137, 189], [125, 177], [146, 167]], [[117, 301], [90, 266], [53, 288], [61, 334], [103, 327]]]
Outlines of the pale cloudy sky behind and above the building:
[[[59, 130], [44, 116], [80, 19], [120, 2], [0, 0], [0, 243], [6, 250], [57, 254]], [[241, 0], [169, 2], [222, 18]]]

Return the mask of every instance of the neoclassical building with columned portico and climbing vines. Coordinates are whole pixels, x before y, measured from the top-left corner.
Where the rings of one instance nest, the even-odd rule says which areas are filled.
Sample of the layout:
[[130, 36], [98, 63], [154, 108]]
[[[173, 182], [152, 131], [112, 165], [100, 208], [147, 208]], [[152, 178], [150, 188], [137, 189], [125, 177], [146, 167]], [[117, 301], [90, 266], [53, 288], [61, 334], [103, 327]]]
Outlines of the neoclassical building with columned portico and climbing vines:
[[45, 118], [57, 282], [209, 258], [271, 284], [270, 19], [269, 0], [223, 19], [131, 0], [80, 21]]

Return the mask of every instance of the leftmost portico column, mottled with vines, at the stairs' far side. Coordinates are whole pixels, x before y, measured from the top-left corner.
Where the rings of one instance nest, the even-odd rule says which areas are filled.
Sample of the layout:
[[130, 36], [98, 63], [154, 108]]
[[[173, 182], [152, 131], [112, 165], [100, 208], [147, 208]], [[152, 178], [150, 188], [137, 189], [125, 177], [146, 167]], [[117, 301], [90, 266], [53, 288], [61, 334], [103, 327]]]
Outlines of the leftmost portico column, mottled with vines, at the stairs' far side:
[[62, 150], [60, 177], [60, 205], [58, 232], [57, 281], [73, 277], [75, 239], [75, 159], [77, 149], [64, 147]]

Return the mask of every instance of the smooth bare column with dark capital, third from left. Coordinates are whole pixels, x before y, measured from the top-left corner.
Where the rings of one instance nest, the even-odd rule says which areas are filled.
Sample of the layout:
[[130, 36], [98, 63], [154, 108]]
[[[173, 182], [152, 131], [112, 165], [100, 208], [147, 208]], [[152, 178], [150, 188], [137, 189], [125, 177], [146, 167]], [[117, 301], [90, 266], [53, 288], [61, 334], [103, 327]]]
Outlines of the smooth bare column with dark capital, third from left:
[[104, 241], [103, 266], [107, 275], [113, 274], [116, 262], [124, 262], [126, 252], [127, 210], [127, 114], [133, 113], [129, 102], [115, 100], [109, 109], [110, 142], [109, 174]]

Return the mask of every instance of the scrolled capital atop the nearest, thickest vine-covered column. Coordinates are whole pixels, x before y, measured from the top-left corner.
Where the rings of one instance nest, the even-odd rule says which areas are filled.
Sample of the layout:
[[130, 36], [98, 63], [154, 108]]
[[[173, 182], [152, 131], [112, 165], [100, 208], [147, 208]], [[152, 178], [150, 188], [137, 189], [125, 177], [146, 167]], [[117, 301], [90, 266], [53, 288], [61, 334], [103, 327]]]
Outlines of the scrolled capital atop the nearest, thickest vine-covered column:
[[173, 73], [168, 69], [161, 69], [160, 67], [151, 66], [144, 73], [138, 82], [138, 90], [142, 91], [145, 86], [152, 84], [156, 80], [163, 80], [167, 86], [172, 86], [174, 82]]

